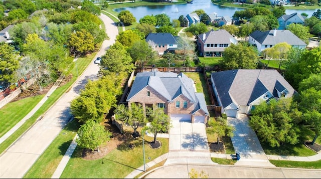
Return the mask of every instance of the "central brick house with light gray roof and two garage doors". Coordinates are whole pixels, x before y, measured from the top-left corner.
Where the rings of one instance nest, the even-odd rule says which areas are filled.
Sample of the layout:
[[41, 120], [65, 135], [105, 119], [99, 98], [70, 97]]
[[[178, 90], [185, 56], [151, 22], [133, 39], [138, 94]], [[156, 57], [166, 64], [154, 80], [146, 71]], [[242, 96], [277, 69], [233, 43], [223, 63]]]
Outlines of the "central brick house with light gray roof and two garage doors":
[[209, 118], [205, 97], [197, 93], [192, 79], [183, 73], [137, 73], [127, 96], [130, 103], [161, 107], [172, 120], [206, 123]]

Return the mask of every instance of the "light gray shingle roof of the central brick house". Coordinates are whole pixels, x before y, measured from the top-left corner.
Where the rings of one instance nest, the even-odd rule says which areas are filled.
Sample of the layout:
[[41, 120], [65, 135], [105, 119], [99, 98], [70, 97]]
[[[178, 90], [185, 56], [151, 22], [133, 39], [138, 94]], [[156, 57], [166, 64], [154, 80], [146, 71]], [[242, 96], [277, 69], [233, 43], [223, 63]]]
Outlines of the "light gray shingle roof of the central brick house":
[[173, 101], [179, 95], [184, 95], [195, 103], [194, 111], [202, 109], [208, 114], [206, 102], [201, 94], [195, 93], [193, 80], [184, 73], [173, 72], [141, 72], [137, 73], [126, 101], [129, 101], [143, 88], [149, 86], [169, 101]]

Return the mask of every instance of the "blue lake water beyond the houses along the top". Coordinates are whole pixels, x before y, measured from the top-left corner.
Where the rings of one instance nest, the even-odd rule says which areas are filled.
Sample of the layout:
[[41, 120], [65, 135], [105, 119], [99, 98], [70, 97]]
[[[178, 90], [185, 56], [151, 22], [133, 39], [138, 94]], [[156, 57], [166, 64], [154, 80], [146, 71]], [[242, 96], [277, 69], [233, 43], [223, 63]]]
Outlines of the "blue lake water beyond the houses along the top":
[[[139, 19], [146, 15], [157, 15], [157, 14], [167, 14], [171, 20], [179, 19], [181, 15], [184, 17], [195, 10], [204, 10], [206, 14], [217, 13], [219, 17], [229, 16], [232, 17], [235, 11], [244, 10], [242, 8], [229, 8], [214, 5], [210, 0], [194, 0], [193, 4], [181, 4], [181, 5], [158, 5], [158, 6], [139, 6], [139, 7], [128, 7], [128, 8], [118, 8], [113, 11], [119, 13], [123, 10], [130, 11], [137, 22]], [[292, 13], [306, 13], [308, 18], [312, 16], [313, 12], [316, 10], [286, 10], [286, 14]]]

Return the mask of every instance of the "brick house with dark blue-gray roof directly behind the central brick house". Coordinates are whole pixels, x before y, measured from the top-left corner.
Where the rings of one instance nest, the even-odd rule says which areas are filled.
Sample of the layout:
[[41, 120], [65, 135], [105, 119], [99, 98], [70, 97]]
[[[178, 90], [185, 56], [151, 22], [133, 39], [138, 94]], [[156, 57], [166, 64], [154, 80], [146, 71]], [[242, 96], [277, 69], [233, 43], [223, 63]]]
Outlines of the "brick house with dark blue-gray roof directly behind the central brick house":
[[177, 37], [171, 33], [149, 33], [145, 40], [158, 55], [163, 55], [169, 48], [176, 49], [178, 46]]

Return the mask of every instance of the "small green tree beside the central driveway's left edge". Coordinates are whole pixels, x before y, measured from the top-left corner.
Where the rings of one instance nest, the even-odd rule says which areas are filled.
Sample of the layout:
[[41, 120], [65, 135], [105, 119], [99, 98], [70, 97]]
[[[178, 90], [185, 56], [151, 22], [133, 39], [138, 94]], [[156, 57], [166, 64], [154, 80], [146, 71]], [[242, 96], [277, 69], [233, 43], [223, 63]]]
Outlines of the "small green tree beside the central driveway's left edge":
[[155, 109], [147, 108], [146, 114], [148, 115], [149, 125], [144, 127], [144, 130], [153, 134], [153, 143], [156, 143], [158, 132], [169, 132], [172, 127], [170, 117], [165, 114], [163, 108], [155, 107]]

